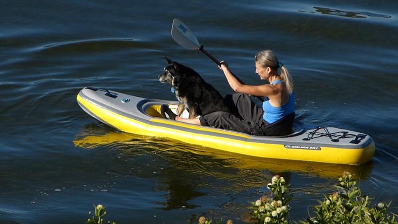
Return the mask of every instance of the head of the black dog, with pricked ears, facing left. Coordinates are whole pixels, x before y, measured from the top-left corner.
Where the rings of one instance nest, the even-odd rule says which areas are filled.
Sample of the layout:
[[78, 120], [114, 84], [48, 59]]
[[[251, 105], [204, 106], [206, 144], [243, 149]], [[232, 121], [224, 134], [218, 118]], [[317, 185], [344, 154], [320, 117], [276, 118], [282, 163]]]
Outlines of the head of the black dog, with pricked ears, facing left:
[[167, 66], [163, 69], [164, 72], [158, 76], [158, 79], [162, 83], [167, 82], [174, 87], [177, 87], [185, 76], [185, 73], [180, 71], [182, 65], [170, 60], [167, 57], [165, 57], [165, 59], [167, 61]]

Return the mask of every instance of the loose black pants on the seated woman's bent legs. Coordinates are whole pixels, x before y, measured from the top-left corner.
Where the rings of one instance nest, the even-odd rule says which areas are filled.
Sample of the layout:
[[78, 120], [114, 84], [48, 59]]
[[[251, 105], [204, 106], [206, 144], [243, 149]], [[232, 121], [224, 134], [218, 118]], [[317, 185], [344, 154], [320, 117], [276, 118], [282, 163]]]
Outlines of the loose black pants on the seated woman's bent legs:
[[249, 135], [265, 135], [267, 122], [263, 120], [263, 109], [257, 106], [250, 96], [235, 93], [225, 96], [225, 103], [232, 109], [232, 113], [213, 112], [199, 118], [200, 125], [222, 128]]

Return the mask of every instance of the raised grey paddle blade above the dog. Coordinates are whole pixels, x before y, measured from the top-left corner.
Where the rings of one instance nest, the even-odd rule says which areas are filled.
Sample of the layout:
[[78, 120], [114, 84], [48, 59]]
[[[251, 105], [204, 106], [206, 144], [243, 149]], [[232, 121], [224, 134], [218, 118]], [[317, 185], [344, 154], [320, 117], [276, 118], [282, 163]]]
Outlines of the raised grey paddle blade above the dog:
[[173, 19], [171, 36], [179, 45], [185, 48], [196, 50], [200, 47], [199, 41], [191, 29], [178, 18]]

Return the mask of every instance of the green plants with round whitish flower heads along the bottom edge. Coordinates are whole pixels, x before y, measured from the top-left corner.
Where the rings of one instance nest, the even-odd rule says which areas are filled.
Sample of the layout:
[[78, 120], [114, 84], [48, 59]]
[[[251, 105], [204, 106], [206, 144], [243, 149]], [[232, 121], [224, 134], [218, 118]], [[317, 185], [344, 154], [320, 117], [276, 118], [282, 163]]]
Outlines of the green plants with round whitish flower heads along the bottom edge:
[[[249, 209], [252, 217], [261, 224], [288, 224], [291, 223], [289, 215], [292, 199], [289, 193], [290, 184], [287, 184], [284, 177], [276, 175], [272, 177], [271, 183], [267, 184], [272, 197], [261, 197], [251, 202]], [[368, 195], [362, 195], [361, 189], [349, 172], [344, 172], [336, 185], [337, 191], [331, 195], [324, 195], [323, 201], [314, 206], [313, 217], [299, 221], [300, 224], [398, 224], [398, 215], [389, 213], [390, 204], [380, 202], [371, 205]], [[88, 224], [102, 224], [103, 217], [107, 214], [102, 205], [94, 206], [94, 216], [87, 221]], [[91, 215], [92, 213], [89, 212]], [[108, 224], [116, 224], [107, 222]], [[211, 224], [211, 219], [199, 218], [199, 224]], [[221, 224], [222, 220], [216, 224]], [[232, 224], [228, 220], [226, 224]]]

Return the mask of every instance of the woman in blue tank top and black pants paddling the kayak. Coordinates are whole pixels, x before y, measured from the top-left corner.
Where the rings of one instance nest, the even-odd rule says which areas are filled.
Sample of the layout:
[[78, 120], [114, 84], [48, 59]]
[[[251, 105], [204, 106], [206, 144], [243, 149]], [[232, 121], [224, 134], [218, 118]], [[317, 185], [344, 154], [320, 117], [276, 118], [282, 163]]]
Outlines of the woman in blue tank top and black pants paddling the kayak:
[[[237, 92], [225, 97], [234, 113], [213, 112], [199, 118], [186, 119], [175, 115], [166, 105], [161, 107], [163, 117], [190, 124], [211, 126], [244, 132], [251, 135], [281, 136], [291, 133], [295, 117], [295, 96], [293, 82], [288, 70], [279, 62], [273, 51], [259, 52], [255, 57], [256, 74], [270, 84], [246, 85], [240, 82], [221, 62], [229, 86]], [[278, 69], [281, 69], [279, 73]], [[262, 108], [249, 97], [264, 96]], [[166, 116], [167, 114], [167, 116]]]

